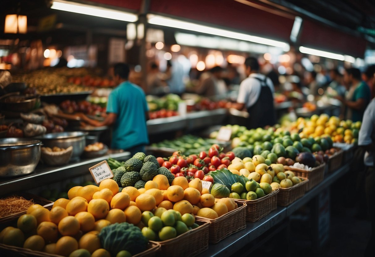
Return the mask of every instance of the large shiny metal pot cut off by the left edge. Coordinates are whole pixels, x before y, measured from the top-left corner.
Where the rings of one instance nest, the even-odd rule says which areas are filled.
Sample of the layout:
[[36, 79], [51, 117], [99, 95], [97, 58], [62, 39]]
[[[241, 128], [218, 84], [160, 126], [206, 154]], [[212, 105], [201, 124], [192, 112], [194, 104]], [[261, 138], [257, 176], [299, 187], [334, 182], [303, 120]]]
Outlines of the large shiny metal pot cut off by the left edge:
[[34, 171], [40, 159], [40, 145], [35, 139], [0, 139], [0, 176], [18, 176]]

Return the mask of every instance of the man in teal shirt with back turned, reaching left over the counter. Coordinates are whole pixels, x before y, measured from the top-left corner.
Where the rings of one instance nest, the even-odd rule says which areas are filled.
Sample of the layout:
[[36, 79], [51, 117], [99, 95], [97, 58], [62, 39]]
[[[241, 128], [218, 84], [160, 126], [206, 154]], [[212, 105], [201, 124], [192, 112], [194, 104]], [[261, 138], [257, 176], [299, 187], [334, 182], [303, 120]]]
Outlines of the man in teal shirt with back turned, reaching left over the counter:
[[135, 154], [145, 152], [148, 144], [146, 120], [148, 106], [143, 90], [128, 81], [129, 66], [114, 66], [114, 82], [118, 85], [108, 97], [107, 117], [99, 122], [80, 114], [82, 120], [92, 126], [112, 126], [111, 148], [124, 149]]

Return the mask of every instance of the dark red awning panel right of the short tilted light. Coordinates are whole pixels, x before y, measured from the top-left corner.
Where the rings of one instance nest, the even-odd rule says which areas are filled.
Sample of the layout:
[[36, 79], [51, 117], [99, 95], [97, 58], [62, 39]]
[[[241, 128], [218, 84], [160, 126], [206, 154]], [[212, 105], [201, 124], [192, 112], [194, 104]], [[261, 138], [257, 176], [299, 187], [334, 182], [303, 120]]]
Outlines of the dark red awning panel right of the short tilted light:
[[299, 39], [302, 46], [363, 58], [366, 40], [324, 24], [304, 19]]

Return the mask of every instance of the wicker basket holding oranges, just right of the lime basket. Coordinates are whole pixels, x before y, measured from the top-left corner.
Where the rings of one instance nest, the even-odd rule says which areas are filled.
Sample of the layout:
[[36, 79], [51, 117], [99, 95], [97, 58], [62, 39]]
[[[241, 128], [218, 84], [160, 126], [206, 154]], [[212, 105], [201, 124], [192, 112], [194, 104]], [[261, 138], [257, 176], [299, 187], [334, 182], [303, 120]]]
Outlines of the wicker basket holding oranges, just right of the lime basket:
[[237, 203], [239, 207], [230, 211], [219, 218], [209, 219], [195, 216], [197, 221], [210, 221], [208, 229], [208, 241], [211, 244], [217, 244], [237, 231], [246, 227], [246, 203]]

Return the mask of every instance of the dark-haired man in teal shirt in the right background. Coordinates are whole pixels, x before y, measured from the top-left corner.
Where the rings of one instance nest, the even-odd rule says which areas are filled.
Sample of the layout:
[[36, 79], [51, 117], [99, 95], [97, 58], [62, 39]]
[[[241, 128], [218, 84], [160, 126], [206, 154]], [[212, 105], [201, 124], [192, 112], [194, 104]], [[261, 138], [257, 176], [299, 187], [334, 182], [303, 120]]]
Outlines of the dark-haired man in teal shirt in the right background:
[[345, 107], [345, 119], [362, 121], [363, 113], [370, 102], [370, 88], [362, 81], [359, 69], [350, 68], [344, 72], [344, 83], [349, 85], [346, 97], [336, 96]]

